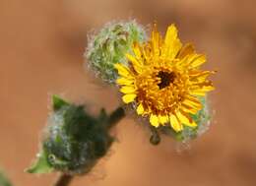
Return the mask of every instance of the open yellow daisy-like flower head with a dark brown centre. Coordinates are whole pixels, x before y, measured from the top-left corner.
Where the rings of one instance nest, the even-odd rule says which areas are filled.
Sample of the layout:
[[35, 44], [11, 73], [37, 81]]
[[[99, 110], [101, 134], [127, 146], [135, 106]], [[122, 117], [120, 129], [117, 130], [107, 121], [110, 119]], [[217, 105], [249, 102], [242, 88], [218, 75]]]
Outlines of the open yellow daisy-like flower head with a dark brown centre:
[[199, 69], [205, 55], [197, 54], [190, 43], [182, 46], [174, 25], [162, 39], [155, 24], [151, 39], [134, 43], [133, 54], [126, 57], [128, 66], [115, 64], [125, 103], [133, 102], [137, 113], [149, 117], [155, 127], [169, 124], [179, 132], [183, 125], [197, 126], [190, 115], [202, 108], [198, 96], [214, 90], [207, 78], [215, 72]]

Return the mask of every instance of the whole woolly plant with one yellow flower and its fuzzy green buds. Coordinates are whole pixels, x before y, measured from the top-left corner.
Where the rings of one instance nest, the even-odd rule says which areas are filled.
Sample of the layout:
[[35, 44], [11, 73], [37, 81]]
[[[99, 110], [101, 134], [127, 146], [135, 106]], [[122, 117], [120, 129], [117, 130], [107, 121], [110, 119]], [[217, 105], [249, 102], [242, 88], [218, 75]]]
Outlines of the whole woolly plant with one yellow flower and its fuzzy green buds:
[[[215, 72], [201, 70], [205, 55], [190, 43], [183, 45], [174, 25], [163, 38], [155, 24], [148, 37], [135, 21], [108, 24], [91, 36], [86, 66], [123, 93], [123, 103], [152, 132], [153, 145], [160, 143], [160, 135], [190, 141], [209, 127], [206, 95], [214, 90], [208, 77]], [[83, 105], [53, 95], [52, 107], [37, 160], [27, 171], [90, 172], [114, 142], [109, 129], [125, 116], [122, 105], [110, 115], [102, 109], [93, 116]]]

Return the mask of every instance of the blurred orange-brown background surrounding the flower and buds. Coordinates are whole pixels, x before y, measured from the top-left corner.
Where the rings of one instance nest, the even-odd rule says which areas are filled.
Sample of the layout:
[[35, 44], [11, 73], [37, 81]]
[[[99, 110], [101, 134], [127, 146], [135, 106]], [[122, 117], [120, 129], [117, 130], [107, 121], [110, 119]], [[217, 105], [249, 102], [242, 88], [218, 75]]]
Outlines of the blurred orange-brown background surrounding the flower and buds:
[[132, 119], [116, 129], [119, 143], [73, 186], [256, 185], [256, 2], [253, 0], [1, 0], [0, 166], [17, 186], [47, 186], [55, 174], [24, 173], [38, 150], [49, 93], [118, 105], [116, 91], [83, 69], [87, 33], [112, 20], [175, 23], [183, 42], [208, 55], [217, 91], [211, 129], [178, 153], [171, 139], [158, 147]]

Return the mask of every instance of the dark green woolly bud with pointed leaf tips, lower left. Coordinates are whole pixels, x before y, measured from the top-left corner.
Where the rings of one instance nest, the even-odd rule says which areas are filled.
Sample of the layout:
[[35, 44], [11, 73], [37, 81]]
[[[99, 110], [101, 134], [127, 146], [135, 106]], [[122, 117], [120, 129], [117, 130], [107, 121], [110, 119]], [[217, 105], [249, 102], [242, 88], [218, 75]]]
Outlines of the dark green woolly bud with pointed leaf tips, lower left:
[[110, 116], [101, 110], [93, 117], [82, 105], [53, 96], [53, 112], [42, 140], [37, 161], [27, 171], [47, 173], [58, 170], [69, 174], [89, 172], [109, 150], [113, 138], [108, 129], [123, 117], [117, 109]]

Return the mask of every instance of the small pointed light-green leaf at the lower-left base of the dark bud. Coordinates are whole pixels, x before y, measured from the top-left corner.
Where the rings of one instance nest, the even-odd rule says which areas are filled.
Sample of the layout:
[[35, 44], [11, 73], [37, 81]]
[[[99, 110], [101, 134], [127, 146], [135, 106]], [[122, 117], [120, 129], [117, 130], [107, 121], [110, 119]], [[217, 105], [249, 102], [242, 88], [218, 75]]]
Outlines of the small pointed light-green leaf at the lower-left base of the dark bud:
[[36, 174], [52, 172], [53, 167], [47, 161], [46, 152], [42, 150], [37, 159], [33, 162], [32, 166], [25, 171]]

